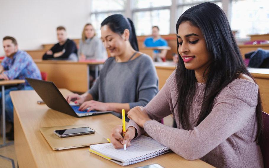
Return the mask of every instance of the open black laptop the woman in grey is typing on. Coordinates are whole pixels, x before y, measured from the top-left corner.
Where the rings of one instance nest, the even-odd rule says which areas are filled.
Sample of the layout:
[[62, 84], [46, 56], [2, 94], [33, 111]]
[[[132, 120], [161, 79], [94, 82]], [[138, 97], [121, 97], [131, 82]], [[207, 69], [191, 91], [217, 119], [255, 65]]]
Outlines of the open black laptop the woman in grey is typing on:
[[36, 93], [42, 98], [42, 100], [46, 103], [46, 105], [54, 110], [59, 112], [69, 114], [74, 117], [84, 117], [84, 116], [91, 116], [95, 114], [104, 114], [110, 113], [112, 111], [90, 111], [87, 110], [81, 112], [79, 111], [79, 106], [72, 106], [68, 104], [65, 100], [64, 96], [61, 94], [59, 89], [53, 82], [25, 78], [28, 83], [35, 89]]

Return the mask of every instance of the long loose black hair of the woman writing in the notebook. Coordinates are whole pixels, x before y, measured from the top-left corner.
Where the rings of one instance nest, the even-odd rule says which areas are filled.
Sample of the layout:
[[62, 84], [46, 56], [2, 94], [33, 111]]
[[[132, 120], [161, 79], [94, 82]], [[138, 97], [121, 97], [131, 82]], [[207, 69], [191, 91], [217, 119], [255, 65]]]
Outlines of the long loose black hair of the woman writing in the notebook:
[[[212, 111], [214, 99], [218, 94], [240, 74], [250, 77], [237, 47], [229, 22], [225, 13], [214, 3], [205, 2], [189, 8], [176, 23], [176, 34], [182, 22], [189, 21], [193, 26], [200, 28], [205, 38], [207, 50], [212, 60], [208, 66], [205, 93], [200, 114], [197, 118], [199, 125]], [[179, 42], [177, 41], [179, 47]], [[178, 53], [179, 54], [179, 53]], [[189, 111], [192, 99], [195, 96], [196, 78], [194, 70], [188, 70], [182, 59], [179, 59], [176, 68], [176, 83], [178, 90], [177, 106], [180, 123], [185, 130], [190, 129]], [[205, 74], [204, 74], [205, 75]], [[252, 77], [253, 79], [253, 77]], [[256, 106], [257, 135], [256, 143], [260, 143], [262, 133], [262, 103], [258, 91]]]

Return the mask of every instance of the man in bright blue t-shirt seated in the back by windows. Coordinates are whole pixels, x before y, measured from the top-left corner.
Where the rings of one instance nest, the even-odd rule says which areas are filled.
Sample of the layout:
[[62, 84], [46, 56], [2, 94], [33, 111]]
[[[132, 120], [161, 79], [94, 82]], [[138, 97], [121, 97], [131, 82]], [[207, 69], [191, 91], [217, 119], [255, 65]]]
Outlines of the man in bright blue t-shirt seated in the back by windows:
[[[168, 43], [166, 40], [161, 38], [161, 35], [159, 34], [159, 27], [153, 26], [152, 27], [152, 36], [148, 37], [144, 41], [145, 47], [161, 47], [161, 46], [168, 46]], [[163, 61], [165, 61], [167, 50], [154, 50], [153, 51], [153, 58], [156, 58], [158, 55]], [[160, 59], [157, 61], [160, 61]]]

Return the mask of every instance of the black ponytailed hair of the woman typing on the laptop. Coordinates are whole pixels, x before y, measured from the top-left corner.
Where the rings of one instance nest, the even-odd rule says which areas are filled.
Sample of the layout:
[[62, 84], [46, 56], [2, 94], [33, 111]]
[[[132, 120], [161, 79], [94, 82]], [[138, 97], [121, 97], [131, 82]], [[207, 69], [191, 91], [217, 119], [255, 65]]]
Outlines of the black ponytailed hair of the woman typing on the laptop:
[[108, 27], [114, 32], [122, 35], [125, 29], [128, 29], [130, 32], [129, 41], [134, 50], [139, 51], [137, 38], [134, 29], [134, 23], [131, 19], [124, 17], [122, 14], [113, 14], [108, 16], [101, 23], [101, 27], [108, 25]]

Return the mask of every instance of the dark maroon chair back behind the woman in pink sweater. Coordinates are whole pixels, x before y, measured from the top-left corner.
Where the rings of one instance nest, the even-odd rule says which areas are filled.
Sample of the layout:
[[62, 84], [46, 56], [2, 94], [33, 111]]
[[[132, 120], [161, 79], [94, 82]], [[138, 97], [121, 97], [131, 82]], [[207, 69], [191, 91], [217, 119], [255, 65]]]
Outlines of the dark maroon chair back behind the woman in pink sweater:
[[269, 114], [263, 112], [263, 135], [264, 139], [260, 145], [264, 167], [269, 167]]

